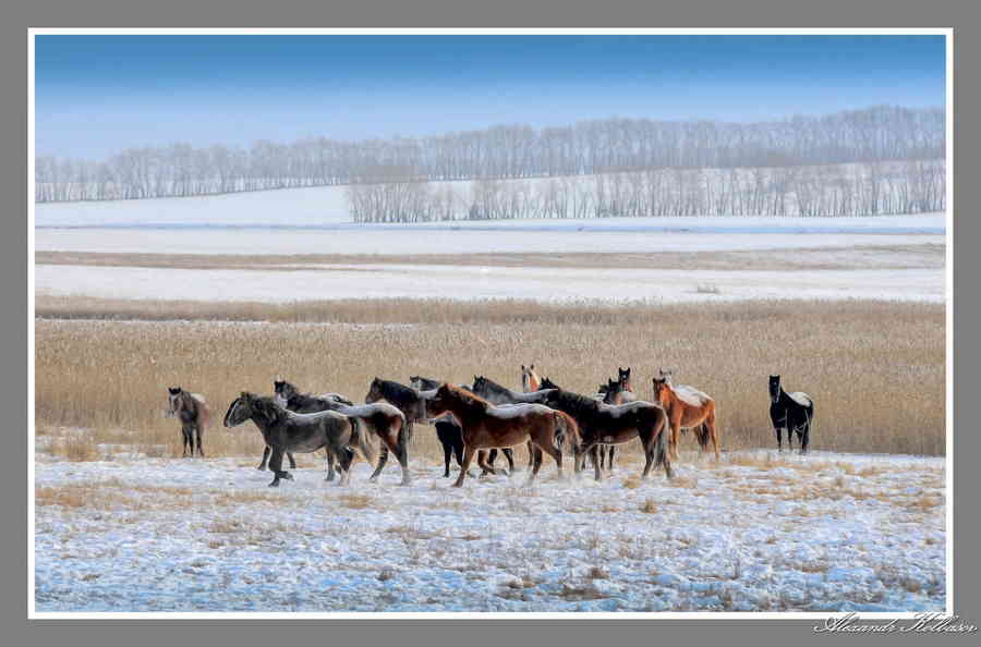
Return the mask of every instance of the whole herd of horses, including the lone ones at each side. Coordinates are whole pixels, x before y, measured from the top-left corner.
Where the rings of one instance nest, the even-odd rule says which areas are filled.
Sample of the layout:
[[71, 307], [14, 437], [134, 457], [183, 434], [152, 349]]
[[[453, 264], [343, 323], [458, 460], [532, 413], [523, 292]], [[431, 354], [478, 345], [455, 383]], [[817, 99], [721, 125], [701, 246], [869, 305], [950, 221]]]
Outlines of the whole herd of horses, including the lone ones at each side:
[[[483, 474], [496, 474], [498, 451], [508, 462], [507, 474], [512, 474], [513, 448], [522, 444], [529, 450], [529, 483], [537, 475], [544, 454], [553, 457], [561, 477], [565, 448], [572, 452], [577, 473], [589, 457], [600, 480], [604, 471], [614, 467], [616, 445], [634, 438], [644, 450], [642, 478], [658, 466], [670, 478], [680, 434], [687, 429], [694, 431], [700, 451], [711, 443], [717, 460], [715, 400], [693, 387], [674, 383], [671, 371], [664, 369], [652, 380], [652, 401], [639, 400], [630, 371], [618, 367], [617, 379], [608, 379], [594, 395], [580, 395], [547, 377], [540, 378], [534, 364], [521, 366], [522, 391], [484, 376], [459, 386], [420, 376], [412, 376], [410, 386], [376, 377], [362, 405], [339, 393], [301, 393], [290, 382], [276, 379], [271, 396], [242, 391], [229, 405], [223, 424], [238, 427], [252, 420], [258, 427], [266, 444], [258, 469], [268, 466], [272, 472], [270, 487], [293, 478], [282, 468], [283, 456], [295, 469], [294, 453], [320, 449], [327, 457], [326, 479], [334, 480], [337, 472], [340, 485], [349, 483], [359, 456], [368, 464], [375, 462], [372, 436], [380, 441], [380, 454], [370, 480], [378, 478], [392, 454], [401, 467], [402, 485], [408, 485], [414, 423], [435, 426], [444, 450], [444, 477], [450, 475], [450, 460], [456, 457], [460, 475], [455, 487], [463, 485], [474, 457]], [[167, 414], [180, 419], [184, 455], [189, 451], [194, 455], [196, 439], [197, 453], [203, 456], [202, 434], [210, 415], [205, 399], [180, 387], [168, 391]], [[784, 391], [778, 375], [770, 376], [770, 399], [777, 447], [783, 449], [782, 431], [786, 430], [792, 449], [796, 432], [800, 451], [806, 453], [814, 419], [812, 399], [803, 392]]]

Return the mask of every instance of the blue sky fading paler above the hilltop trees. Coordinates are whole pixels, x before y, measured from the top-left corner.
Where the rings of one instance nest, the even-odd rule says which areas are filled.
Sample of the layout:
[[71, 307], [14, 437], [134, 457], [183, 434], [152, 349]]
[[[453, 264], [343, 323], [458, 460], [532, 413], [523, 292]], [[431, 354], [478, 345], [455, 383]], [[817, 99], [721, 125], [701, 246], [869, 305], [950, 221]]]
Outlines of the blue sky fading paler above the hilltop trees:
[[943, 36], [37, 36], [39, 155], [944, 105]]

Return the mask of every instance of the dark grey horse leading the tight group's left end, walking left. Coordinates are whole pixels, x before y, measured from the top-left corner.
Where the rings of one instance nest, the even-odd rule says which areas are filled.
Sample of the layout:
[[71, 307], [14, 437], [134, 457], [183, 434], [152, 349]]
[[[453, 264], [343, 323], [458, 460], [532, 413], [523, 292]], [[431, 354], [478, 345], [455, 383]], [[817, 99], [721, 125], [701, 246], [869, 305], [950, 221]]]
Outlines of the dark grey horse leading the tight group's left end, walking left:
[[358, 418], [336, 411], [294, 413], [283, 408], [274, 398], [242, 391], [229, 405], [225, 414], [225, 426], [238, 427], [250, 419], [262, 431], [266, 444], [272, 448], [269, 469], [275, 476], [269, 487], [278, 487], [282, 478], [293, 479], [289, 472], [282, 469], [282, 455], [286, 452], [311, 453], [324, 449], [328, 454], [334, 454], [341, 473], [339, 485], [351, 480], [355, 450], [368, 463], [373, 460], [374, 452]]

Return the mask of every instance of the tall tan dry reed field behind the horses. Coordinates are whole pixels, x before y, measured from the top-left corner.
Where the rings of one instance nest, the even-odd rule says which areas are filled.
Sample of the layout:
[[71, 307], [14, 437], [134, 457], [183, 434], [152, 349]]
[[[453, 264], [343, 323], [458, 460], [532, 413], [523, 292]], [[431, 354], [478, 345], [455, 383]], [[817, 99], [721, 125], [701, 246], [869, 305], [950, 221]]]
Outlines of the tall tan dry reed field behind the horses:
[[[642, 398], [657, 367], [671, 367], [678, 382], [716, 399], [724, 450], [775, 447], [766, 381], [778, 373], [815, 401], [814, 450], [944, 453], [944, 308], [935, 304], [44, 297], [37, 314], [57, 317], [35, 325], [38, 449], [75, 461], [122, 447], [180, 455], [179, 426], [164, 418], [168, 386], [207, 398], [208, 455], [257, 459], [253, 426], [225, 429], [221, 418], [240, 391], [269, 393], [277, 375], [361, 401], [375, 376], [469, 382], [480, 374], [517, 389], [530, 363], [582, 393], [631, 366]], [[432, 428], [419, 427], [413, 442], [412, 460], [441, 461]]]

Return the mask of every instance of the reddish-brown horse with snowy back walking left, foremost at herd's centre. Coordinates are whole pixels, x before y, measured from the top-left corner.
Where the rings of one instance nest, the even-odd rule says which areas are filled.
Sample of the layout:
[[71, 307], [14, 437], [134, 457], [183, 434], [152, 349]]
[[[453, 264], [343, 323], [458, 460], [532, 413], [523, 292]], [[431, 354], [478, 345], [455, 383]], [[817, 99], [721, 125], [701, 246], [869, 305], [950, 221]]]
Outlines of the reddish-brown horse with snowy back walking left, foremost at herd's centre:
[[[463, 429], [463, 465], [453, 487], [461, 487], [467, 471], [477, 450], [510, 448], [531, 442], [534, 466], [529, 474], [531, 484], [542, 467], [542, 452], [555, 459], [559, 477], [562, 476], [562, 451], [565, 440], [579, 447], [579, 427], [571, 416], [542, 404], [514, 404], [494, 406], [480, 395], [475, 395], [451, 384], [443, 384], [426, 402], [428, 415], [438, 416], [450, 412]], [[483, 456], [481, 467], [488, 469]]]

